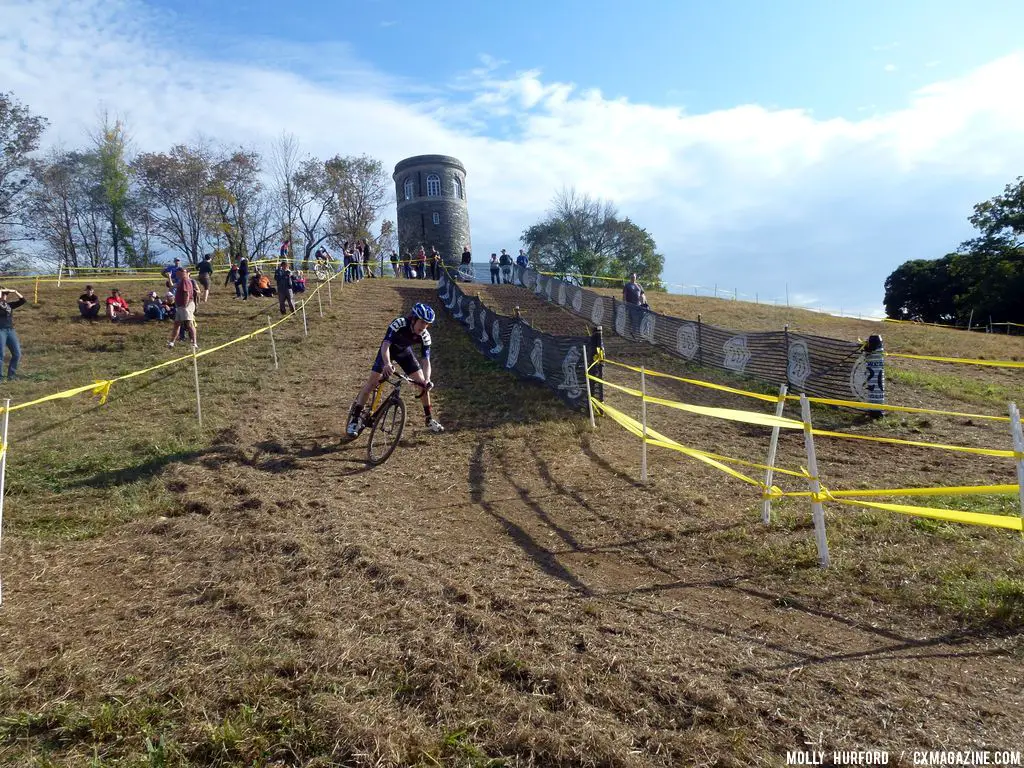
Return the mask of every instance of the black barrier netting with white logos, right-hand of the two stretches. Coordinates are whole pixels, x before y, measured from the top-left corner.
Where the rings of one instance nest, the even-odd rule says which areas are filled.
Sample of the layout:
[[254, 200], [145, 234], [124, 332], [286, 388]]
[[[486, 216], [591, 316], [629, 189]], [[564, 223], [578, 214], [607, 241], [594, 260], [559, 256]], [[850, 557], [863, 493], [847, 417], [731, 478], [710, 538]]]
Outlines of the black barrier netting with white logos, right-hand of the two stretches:
[[869, 401], [860, 344], [786, 331], [744, 333], [658, 314], [532, 269], [516, 267], [516, 282], [594, 326], [678, 357], [823, 397]]

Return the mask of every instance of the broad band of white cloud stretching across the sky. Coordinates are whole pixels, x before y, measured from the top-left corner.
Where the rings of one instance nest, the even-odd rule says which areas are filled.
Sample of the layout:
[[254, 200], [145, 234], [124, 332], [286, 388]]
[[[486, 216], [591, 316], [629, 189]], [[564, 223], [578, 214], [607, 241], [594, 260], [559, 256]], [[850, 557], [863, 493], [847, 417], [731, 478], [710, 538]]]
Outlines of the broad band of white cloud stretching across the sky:
[[518, 247], [573, 184], [648, 228], [671, 283], [761, 297], [787, 284], [829, 308], [880, 306], [893, 268], [954, 248], [971, 205], [1024, 166], [1024, 102], [1006, 97], [1024, 79], [1021, 54], [894, 112], [821, 120], [611, 99], [539, 70], [503, 74], [486, 54], [445, 87], [375, 70], [344, 45], [321, 56], [262, 41], [272, 57], [216, 60], [172, 42], [175, 19], [134, 0], [0, 0], [0, 15], [3, 87], [51, 120], [49, 141], [81, 141], [103, 102], [142, 150], [199, 132], [266, 145], [288, 130], [322, 157], [455, 155], [478, 253]]

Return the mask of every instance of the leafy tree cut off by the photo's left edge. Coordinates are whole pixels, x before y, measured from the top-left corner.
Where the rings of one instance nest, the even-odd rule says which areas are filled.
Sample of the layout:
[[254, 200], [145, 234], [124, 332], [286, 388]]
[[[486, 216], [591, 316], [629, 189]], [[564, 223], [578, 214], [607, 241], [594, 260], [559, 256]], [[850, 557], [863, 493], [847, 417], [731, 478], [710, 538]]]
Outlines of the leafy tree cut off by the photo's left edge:
[[0, 256], [20, 239], [19, 224], [29, 206], [32, 154], [46, 129], [46, 118], [33, 115], [11, 93], [0, 93]]

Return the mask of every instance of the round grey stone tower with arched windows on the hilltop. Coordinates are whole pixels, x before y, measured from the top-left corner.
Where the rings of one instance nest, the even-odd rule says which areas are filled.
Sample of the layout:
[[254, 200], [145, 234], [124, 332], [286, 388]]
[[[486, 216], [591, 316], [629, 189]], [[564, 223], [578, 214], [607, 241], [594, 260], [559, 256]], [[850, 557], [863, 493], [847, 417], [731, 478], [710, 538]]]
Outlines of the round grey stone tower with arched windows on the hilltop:
[[445, 264], [462, 260], [470, 246], [466, 167], [447, 155], [417, 155], [394, 167], [398, 246], [402, 257], [420, 245], [435, 246]]

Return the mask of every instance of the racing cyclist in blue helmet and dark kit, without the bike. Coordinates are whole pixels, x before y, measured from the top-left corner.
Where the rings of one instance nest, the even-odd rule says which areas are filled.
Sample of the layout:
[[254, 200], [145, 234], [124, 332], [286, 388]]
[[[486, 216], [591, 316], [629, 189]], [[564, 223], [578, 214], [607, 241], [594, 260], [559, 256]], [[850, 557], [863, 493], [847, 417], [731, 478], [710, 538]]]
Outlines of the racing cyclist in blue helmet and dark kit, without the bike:
[[[401, 366], [409, 378], [424, 385], [423, 415], [426, 418], [427, 429], [434, 433], [444, 431], [444, 427], [434, 419], [430, 410], [430, 390], [434, 385], [430, 381], [430, 332], [427, 329], [433, 322], [434, 310], [427, 304], [418, 303], [408, 315], [395, 317], [387, 327], [384, 341], [381, 342], [381, 348], [377, 352], [377, 359], [374, 360], [367, 383], [348, 412], [348, 427], [345, 431], [349, 437], [355, 437], [359, 433], [359, 415], [367, 400], [381, 379], [391, 375], [396, 362]], [[413, 345], [416, 343], [420, 344], [420, 353], [423, 355], [422, 367], [413, 353]]]

